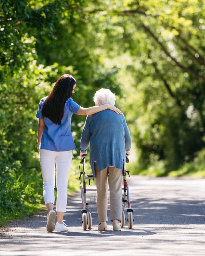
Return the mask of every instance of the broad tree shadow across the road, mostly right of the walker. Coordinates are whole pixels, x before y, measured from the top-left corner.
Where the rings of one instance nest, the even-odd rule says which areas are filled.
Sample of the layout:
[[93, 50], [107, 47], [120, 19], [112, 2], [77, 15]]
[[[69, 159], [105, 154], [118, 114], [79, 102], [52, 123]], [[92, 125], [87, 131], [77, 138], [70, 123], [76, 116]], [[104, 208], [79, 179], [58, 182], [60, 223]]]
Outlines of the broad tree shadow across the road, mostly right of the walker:
[[[164, 194], [166, 196], [163, 196]], [[165, 188], [164, 186], [161, 189], [158, 187], [153, 194], [152, 188], [148, 187], [145, 191], [136, 184], [136, 187], [130, 191], [135, 220], [133, 224], [204, 224], [205, 201], [193, 199], [197, 197], [196, 195], [193, 195], [193, 198], [187, 197], [188, 194], [190, 195], [190, 192], [187, 189], [180, 190], [179, 187]], [[149, 195], [149, 197], [144, 195]], [[75, 196], [78, 197], [79, 193]], [[68, 205], [70, 205], [68, 208], [73, 205], [75, 217], [78, 216], [78, 221], [80, 221], [81, 199], [78, 197], [77, 201], [72, 201], [72, 198], [69, 198]], [[94, 211], [91, 209], [91, 213], [93, 225], [98, 225], [96, 209]], [[107, 213], [109, 219], [110, 211], [108, 210]]]

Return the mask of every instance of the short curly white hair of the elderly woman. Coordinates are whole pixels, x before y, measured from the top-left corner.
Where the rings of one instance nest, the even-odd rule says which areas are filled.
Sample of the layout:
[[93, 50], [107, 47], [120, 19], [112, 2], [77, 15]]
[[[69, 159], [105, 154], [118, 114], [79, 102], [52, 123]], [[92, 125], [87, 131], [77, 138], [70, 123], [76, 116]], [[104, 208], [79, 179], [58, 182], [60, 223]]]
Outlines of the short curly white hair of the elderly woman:
[[113, 92], [111, 92], [111, 90], [109, 89], [100, 89], [98, 91], [96, 91], [93, 101], [96, 104], [110, 104], [110, 105], [115, 105], [115, 94]]

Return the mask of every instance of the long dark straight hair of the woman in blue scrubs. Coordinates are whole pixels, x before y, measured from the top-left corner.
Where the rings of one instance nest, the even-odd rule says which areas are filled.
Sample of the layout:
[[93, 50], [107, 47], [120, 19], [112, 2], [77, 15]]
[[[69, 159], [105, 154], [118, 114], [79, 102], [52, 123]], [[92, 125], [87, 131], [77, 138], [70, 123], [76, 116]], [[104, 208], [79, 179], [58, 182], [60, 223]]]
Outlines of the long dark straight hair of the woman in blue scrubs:
[[53, 123], [61, 125], [64, 107], [72, 95], [74, 84], [76, 84], [75, 78], [69, 74], [64, 74], [58, 79], [44, 103], [42, 109], [44, 117], [48, 117]]

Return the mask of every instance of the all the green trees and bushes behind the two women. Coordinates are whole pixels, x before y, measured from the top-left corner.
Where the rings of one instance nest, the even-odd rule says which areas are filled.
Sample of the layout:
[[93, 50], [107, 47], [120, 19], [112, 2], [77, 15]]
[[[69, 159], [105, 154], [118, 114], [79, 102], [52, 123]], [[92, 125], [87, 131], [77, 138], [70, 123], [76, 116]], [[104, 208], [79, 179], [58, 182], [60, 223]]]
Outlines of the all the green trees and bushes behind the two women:
[[[132, 136], [128, 169], [205, 177], [202, 0], [0, 0], [0, 224], [42, 207], [35, 114], [58, 77], [93, 105], [109, 88]], [[73, 115], [69, 192], [85, 117]], [[89, 171], [89, 162], [87, 161]]]

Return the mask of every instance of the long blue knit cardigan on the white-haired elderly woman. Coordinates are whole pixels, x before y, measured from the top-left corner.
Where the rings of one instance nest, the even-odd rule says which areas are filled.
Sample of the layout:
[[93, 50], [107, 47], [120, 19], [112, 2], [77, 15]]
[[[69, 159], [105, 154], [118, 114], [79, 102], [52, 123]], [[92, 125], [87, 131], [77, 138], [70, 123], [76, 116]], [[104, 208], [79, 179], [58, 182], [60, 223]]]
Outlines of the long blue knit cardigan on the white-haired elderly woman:
[[122, 169], [126, 153], [131, 148], [130, 131], [123, 114], [106, 109], [87, 116], [81, 134], [80, 151], [86, 152], [90, 142], [90, 165], [99, 170], [108, 166]]

